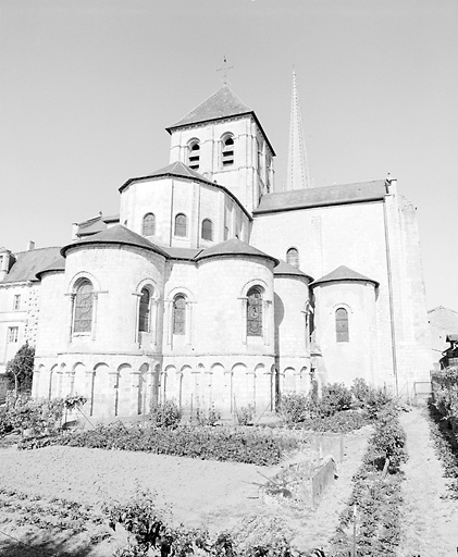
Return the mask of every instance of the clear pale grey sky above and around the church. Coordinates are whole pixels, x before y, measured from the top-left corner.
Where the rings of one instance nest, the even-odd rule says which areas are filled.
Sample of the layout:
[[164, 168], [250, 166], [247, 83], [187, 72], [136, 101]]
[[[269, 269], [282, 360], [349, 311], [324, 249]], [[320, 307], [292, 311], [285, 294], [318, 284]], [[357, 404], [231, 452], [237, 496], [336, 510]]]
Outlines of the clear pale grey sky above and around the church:
[[0, 246], [63, 246], [169, 164], [227, 78], [286, 182], [293, 67], [314, 186], [385, 178], [418, 210], [428, 309], [458, 310], [456, 0], [0, 0]]

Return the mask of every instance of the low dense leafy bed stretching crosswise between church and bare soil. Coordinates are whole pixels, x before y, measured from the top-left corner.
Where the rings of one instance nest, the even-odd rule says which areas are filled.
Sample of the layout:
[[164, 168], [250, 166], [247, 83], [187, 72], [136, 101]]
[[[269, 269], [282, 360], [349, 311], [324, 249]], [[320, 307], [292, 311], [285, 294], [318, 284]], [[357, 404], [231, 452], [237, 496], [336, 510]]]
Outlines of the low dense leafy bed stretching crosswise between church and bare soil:
[[23, 440], [20, 448], [66, 445], [102, 449], [141, 450], [203, 460], [230, 460], [259, 466], [277, 465], [285, 453], [299, 446], [294, 436], [274, 435], [265, 429], [154, 428], [122, 422], [94, 430]]

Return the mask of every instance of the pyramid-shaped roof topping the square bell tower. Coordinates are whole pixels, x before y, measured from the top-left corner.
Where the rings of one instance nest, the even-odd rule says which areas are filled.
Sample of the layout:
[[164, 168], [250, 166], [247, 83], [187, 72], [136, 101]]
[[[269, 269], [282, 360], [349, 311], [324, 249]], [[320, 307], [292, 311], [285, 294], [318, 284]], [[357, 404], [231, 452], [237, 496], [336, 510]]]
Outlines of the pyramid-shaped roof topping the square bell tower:
[[243, 115], [250, 115], [255, 119], [272, 151], [272, 154], [275, 156], [275, 151], [273, 150], [268, 136], [262, 129], [262, 126], [255, 111], [244, 104], [226, 84], [224, 84], [216, 92], [208, 97], [197, 108], [178, 120], [178, 122], [166, 127], [165, 129], [169, 132], [169, 134], [171, 134], [173, 129], [177, 129], [180, 127], [187, 127], [203, 122], [214, 122], [218, 120], [225, 120], [228, 117]]

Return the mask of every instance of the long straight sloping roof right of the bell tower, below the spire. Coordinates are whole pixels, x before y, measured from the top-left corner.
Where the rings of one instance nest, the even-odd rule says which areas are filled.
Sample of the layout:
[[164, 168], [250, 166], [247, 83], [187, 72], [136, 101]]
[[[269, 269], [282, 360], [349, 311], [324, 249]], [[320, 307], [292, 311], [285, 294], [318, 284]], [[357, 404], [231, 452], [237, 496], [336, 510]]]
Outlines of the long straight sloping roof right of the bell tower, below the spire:
[[253, 214], [307, 209], [310, 207], [377, 201], [383, 199], [385, 195], [386, 183], [384, 180], [277, 191], [262, 196], [261, 202], [253, 211]]

